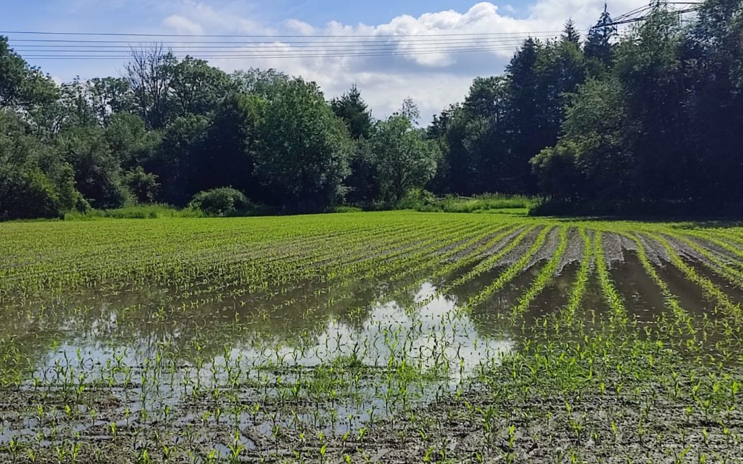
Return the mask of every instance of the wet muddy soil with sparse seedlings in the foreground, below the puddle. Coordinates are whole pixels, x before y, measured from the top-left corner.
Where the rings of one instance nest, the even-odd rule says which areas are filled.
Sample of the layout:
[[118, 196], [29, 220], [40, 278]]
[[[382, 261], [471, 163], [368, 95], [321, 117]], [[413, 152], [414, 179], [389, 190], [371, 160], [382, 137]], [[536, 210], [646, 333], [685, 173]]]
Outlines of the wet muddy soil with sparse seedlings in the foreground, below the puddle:
[[[446, 396], [406, 415], [384, 419], [351, 433], [333, 433], [309, 423], [294, 432], [272, 432], [270, 424], [241, 422], [238, 457], [232, 462], [283, 463], [413, 463], [427, 460], [453, 463], [502, 462], [556, 463], [571, 459], [583, 463], [729, 462], [743, 456], [743, 414], [739, 409], [707, 416], [691, 396], [673, 397], [660, 380], [635, 380], [609, 375], [604, 393], [593, 389], [565, 392], [543, 388], [524, 390], [510, 379], [507, 369], [490, 373], [489, 385], [473, 385], [458, 396]], [[663, 374], [658, 373], [658, 379]], [[727, 372], [727, 375], [740, 373]], [[617, 392], [612, 386], [623, 385]], [[690, 384], [680, 386], [688, 391]], [[4, 392], [0, 416], [4, 426], [14, 422], [13, 410], [33, 401], [29, 392]], [[77, 463], [128, 463], [141, 461], [147, 448], [149, 462], [206, 462], [210, 455], [226, 462], [235, 449], [235, 429], [230, 419], [203, 420], [197, 411], [210, 399], [181, 405], [167, 422], [146, 425], [136, 416], [123, 419], [115, 398], [85, 393], [82, 403], [96, 408], [97, 419], [81, 428]], [[61, 408], [63, 402], [49, 407]], [[330, 405], [328, 405], [330, 406]], [[22, 406], [21, 406], [22, 407]], [[263, 404], [278, 414], [300, 404], [282, 407]], [[84, 416], [85, 410], [82, 411]], [[32, 423], [36, 428], [65, 428]], [[85, 419], [81, 419], [81, 422]], [[119, 424], [112, 436], [108, 426]], [[17, 424], [13, 424], [17, 425]], [[230, 449], [230, 447], [233, 447]], [[56, 463], [60, 444], [37, 448], [33, 462]], [[322, 449], [322, 454], [321, 450]], [[172, 454], [166, 454], [171, 450]], [[216, 453], [215, 453], [216, 451]], [[432, 459], [433, 458], [433, 459]], [[68, 458], [71, 460], [71, 458]], [[25, 452], [0, 451], [0, 462], [31, 463]]]

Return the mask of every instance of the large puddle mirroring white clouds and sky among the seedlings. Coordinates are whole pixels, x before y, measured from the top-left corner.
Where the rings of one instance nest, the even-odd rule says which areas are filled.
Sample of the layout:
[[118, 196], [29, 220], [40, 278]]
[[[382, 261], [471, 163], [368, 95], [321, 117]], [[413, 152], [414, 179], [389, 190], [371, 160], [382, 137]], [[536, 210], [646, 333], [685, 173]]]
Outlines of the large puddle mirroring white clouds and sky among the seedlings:
[[[61, 303], [28, 311], [3, 324], [2, 339], [16, 350], [14, 360], [27, 363], [21, 391], [30, 398], [39, 388], [63, 397], [106, 392], [117, 405], [107, 416], [120, 427], [146, 425], [148, 416], [158, 414], [171, 414], [186, 427], [198, 422], [192, 411], [204, 396], [222, 391], [234, 399], [227, 405], [219, 400], [220, 408], [239, 411], [238, 425], [255, 433], [270, 434], [269, 424], [288, 427], [297, 420], [347, 431], [452, 393], [479, 365], [515, 346], [507, 336], [479, 330], [458, 310], [456, 296], [438, 295], [430, 282], [411, 288], [390, 299], [381, 287], [367, 286], [351, 299], [359, 305], [350, 310], [319, 304], [311, 311], [274, 313], [223, 303], [166, 307], [158, 298], [168, 293], [153, 289], [115, 295], [98, 306]], [[13, 362], [4, 369], [21, 365]], [[81, 393], [74, 393], [78, 388]], [[293, 408], [274, 406], [291, 394]], [[237, 406], [253, 402], [267, 412], [249, 414]], [[163, 413], [167, 408], [172, 412]], [[78, 432], [96, 426], [95, 420], [72, 422]], [[0, 444], [39, 432], [27, 420], [23, 424], [8, 427]]]

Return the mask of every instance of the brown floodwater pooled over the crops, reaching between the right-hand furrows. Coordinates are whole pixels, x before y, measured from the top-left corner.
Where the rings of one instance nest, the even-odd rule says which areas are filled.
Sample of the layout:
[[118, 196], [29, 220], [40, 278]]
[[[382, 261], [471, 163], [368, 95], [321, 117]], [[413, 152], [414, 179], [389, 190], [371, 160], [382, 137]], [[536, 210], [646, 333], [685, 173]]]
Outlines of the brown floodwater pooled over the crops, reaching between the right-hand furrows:
[[[611, 278], [632, 318], [640, 325], [654, 324], [667, 313], [663, 296], [637, 257], [626, 253], [625, 258], [614, 264]], [[0, 353], [4, 353], [0, 369], [18, 376], [22, 388], [16, 394], [26, 401], [33, 401], [33, 385], [39, 382], [54, 389], [82, 382], [90, 391], [111, 385], [116, 406], [109, 415], [122, 427], [136, 420], [123, 419], [123, 411], [156, 414], [165, 405], [178, 409], [173, 420], [179, 426], [198, 422], [198, 405], [204, 399], [194, 382], [231, 391], [235, 370], [241, 372], [241, 380], [232, 391], [237, 402], [247, 405], [259, 399], [269, 405], [279, 401], [288, 394], [282, 382], [299, 385], [305, 382], [303, 375], [311, 379], [310, 385], [350, 376], [343, 385], [321, 388], [337, 390], [341, 398], [323, 402], [314, 411], [297, 406], [274, 411], [273, 416], [243, 413], [238, 422], [241, 429], [257, 428], [254, 432], [265, 436], [270, 435], [270, 424], [289, 425], [296, 420], [326, 431], [357, 430], [371, 417], [394, 416], [400, 408], [399, 400], [390, 399], [399, 394], [395, 392], [406, 391], [406, 401], [427, 404], [464, 388], [479, 366], [518, 350], [522, 339], [530, 336], [531, 324], [565, 307], [578, 270], [577, 263], [562, 269], [514, 326], [504, 316], [533, 284], [545, 261], [525, 269], [483, 304], [464, 312], [462, 304], [499, 278], [506, 267], [484, 272], [447, 294], [439, 289], [477, 264], [444, 278], [427, 278], [426, 273], [433, 272], [429, 270], [344, 286], [302, 282], [270, 295], [184, 295], [145, 287], [8, 309], [0, 312]], [[656, 270], [684, 310], [697, 320], [709, 316], [713, 304], [698, 287], [672, 266]], [[735, 301], [743, 301], [738, 289], [724, 286], [711, 272], [704, 275]], [[598, 330], [601, 321], [609, 318], [595, 276], [588, 281], [575, 317], [588, 330]], [[712, 346], [714, 336], [710, 340]], [[340, 370], [322, 374], [328, 365]], [[354, 365], [366, 370], [353, 374]], [[159, 382], [155, 387], [150, 383], [153, 377]], [[12, 414], [0, 408], [0, 419], [12, 422]], [[19, 434], [35, 434], [38, 428], [30, 420], [24, 419], [22, 428], [8, 428], [12, 433], [0, 433], [0, 445]], [[85, 431], [96, 422], [80, 421], [74, 426]], [[249, 437], [241, 440], [255, 446]]]

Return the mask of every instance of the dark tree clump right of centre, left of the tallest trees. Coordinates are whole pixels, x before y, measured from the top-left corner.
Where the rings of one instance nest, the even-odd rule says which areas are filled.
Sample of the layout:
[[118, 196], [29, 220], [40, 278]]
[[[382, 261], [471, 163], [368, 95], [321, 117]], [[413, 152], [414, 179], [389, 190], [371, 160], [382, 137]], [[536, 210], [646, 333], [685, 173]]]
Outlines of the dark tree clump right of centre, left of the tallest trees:
[[444, 147], [437, 193], [536, 193], [528, 160], [557, 142], [571, 94], [585, 81], [580, 37], [568, 23], [555, 42], [528, 39], [504, 76], [476, 78], [464, 105], [434, 120]]

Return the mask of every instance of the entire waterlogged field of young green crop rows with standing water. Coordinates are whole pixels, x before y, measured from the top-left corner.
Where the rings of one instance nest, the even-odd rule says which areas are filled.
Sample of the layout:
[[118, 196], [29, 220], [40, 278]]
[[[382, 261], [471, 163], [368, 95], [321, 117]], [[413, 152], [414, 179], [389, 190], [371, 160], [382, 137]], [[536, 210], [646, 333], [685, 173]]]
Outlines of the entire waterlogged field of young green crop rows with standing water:
[[741, 462], [743, 228], [0, 224], [0, 462]]

